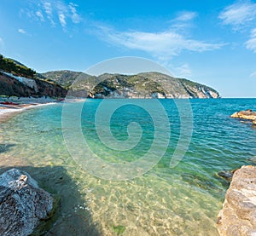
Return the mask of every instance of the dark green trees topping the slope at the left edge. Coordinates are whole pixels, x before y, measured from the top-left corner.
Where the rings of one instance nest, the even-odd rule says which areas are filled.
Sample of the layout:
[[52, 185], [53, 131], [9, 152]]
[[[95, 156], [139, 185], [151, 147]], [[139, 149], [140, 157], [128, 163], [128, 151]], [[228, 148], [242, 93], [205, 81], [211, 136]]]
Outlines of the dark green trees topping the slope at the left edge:
[[3, 72], [9, 72], [15, 76], [34, 78], [36, 72], [32, 69], [17, 63], [15, 60], [5, 58], [0, 55], [0, 70]]

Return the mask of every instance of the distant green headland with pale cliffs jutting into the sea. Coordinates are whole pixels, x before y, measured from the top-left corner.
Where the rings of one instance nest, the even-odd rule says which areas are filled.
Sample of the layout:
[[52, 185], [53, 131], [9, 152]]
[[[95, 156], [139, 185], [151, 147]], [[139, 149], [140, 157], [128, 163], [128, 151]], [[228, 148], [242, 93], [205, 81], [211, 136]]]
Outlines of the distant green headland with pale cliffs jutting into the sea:
[[91, 98], [219, 98], [218, 91], [185, 78], [160, 72], [136, 75], [105, 73], [98, 77], [83, 72], [55, 71], [41, 74], [61, 83], [68, 94]]

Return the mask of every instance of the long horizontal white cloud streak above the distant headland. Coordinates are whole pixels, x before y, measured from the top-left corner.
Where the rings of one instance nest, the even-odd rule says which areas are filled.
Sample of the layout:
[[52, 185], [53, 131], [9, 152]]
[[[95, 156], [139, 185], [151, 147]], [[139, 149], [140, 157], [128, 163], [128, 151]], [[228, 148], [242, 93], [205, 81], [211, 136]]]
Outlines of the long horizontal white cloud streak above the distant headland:
[[220, 49], [223, 43], [206, 43], [184, 37], [176, 31], [166, 32], [118, 32], [104, 26], [98, 26], [98, 34], [108, 43], [123, 46], [127, 49], [139, 49], [166, 60], [182, 51], [204, 52]]

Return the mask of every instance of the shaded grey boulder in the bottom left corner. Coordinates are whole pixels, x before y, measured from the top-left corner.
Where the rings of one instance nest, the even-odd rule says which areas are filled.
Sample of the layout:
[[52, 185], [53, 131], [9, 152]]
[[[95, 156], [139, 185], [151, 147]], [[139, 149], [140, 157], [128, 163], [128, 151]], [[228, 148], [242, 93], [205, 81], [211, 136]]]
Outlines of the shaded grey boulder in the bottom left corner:
[[31, 234], [52, 208], [53, 198], [25, 171], [11, 169], [0, 176], [0, 235]]

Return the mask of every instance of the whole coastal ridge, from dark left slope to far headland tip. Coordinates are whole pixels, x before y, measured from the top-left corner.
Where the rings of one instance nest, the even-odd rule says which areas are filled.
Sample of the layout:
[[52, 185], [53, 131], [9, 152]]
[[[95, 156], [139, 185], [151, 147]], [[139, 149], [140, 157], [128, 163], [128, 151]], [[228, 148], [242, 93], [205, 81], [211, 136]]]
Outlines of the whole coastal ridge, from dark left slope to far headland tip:
[[218, 91], [160, 72], [92, 76], [68, 70], [37, 73], [0, 55], [0, 95], [90, 98], [219, 98]]

